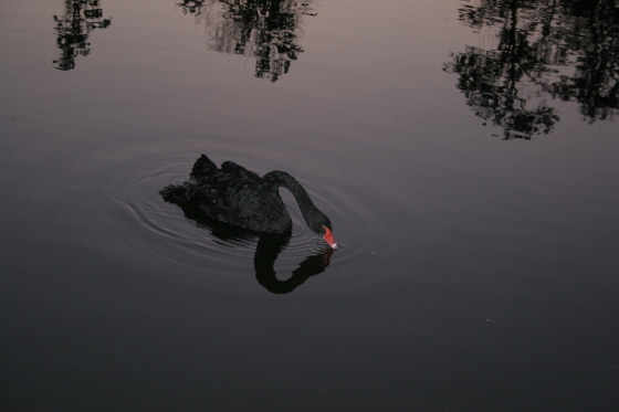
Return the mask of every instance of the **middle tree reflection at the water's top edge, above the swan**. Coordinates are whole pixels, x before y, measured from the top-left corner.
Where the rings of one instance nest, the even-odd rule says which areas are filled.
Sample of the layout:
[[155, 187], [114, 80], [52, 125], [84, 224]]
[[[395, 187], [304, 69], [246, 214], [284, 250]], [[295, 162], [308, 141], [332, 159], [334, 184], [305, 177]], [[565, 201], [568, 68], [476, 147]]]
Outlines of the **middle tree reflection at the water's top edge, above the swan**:
[[209, 50], [255, 57], [255, 76], [271, 82], [287, 73], [303, 50], [296, 43], [302, 15], [315, 15], [308, 2], [293, 0], [183, 0], [183, 13], [204, 20]]

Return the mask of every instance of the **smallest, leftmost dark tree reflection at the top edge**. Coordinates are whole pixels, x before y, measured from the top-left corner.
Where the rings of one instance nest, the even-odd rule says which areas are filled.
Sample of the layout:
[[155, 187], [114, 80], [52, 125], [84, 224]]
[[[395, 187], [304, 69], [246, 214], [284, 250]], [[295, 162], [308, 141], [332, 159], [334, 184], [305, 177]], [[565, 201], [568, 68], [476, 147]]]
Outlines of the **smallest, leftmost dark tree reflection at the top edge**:
[[75, 57], [91, 53], [87, 42], [91, 31], [107, 28], [112, 18], [103, 19], [99, 0], [65, 0], [64, 14], [54, 15], [54, 21], [56, 44], [61, 50], [54, 67], [69, 71], [75, 67]]

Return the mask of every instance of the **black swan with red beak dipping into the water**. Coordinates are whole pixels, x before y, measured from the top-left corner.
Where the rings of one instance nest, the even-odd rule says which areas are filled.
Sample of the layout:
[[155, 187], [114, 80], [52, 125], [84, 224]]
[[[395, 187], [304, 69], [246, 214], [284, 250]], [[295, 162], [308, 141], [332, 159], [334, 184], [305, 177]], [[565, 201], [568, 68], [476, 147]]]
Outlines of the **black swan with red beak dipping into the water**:
[[259, 233], [285, 234], [292, 231], [292, 219], [279, 188], [294, 194], [307, 226], [336, 249], [329, 219], [314, 205], [301, 183], [285, 171], [274, 170], [261, 178], [232, 161], [218, 168], [202, 155], [196, 160], [189, 181], [167, 186], [159, 193], [170, 203], [192, 203], [220, 222]]

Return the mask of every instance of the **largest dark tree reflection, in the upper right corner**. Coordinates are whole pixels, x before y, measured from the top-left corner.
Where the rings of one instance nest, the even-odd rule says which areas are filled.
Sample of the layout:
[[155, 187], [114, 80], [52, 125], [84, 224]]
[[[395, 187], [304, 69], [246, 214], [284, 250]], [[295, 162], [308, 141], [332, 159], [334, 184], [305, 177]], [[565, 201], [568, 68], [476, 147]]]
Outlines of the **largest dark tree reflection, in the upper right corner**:
[[485, 44], [452, 54], [444, 70], [475, 114], [504, 139], [548, 134], [559, 122], [549, 101], [576, 102], [588, 123], [619, 108], [619, 4], [616, 0], [463, 1], [459, 19]]

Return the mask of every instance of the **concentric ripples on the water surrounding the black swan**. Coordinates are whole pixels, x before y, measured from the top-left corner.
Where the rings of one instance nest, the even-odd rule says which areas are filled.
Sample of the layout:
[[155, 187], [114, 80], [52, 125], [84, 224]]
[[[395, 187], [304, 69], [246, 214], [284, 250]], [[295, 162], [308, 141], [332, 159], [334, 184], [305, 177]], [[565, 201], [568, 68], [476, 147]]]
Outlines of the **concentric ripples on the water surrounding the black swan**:
[[[220, 162], [221, 159], [216, 159]], [[224, 159], [225, 160], [225, 159]], [[237, 159], [243, 165], [243, 159]], [[187, 159], [125, 158], [114, 165], [108, 186], [111, 214], [137, 237], [135, 249], [126, 251], [137, 261], [156, 260], [177, 272], [239, 275], [253, 273], [253, 257], [260, 235], [240, 230], [176, 204], [165, 202], [159, 190], [188, 178], [191, 161]], [[249, 163], [249, 165], [248, 165]], [[244, 163], [252, 169], [251, 161]], [[331, 268], [369, 256], [369, 239], [375, 230], [371, 214], [364, 208], [364, 188], [342, 179], [327, 179], [316, 168], [290, 172], [306, 188], [316, 205], [334, 224], [338, 247], [329, 253]], [[109, 167], [109, 165], [107, 165]], [[301, 170], [303, 169], [303, 170]], [[263, 173], [259, 168], [254, 168]], [[314, 182], [328, 182], [318, 186]], [[307, 256], [328, 250], [326, 243], [303, 221], [292, 194], [283, 196], [293, 216], [292, 236], [277, 258], [277, 267], [292, 271]], [[296, 210], [295, 210], [296, 208]], [[285, 276], [285, 275], [284, 275]]]

